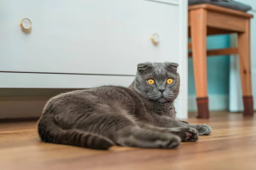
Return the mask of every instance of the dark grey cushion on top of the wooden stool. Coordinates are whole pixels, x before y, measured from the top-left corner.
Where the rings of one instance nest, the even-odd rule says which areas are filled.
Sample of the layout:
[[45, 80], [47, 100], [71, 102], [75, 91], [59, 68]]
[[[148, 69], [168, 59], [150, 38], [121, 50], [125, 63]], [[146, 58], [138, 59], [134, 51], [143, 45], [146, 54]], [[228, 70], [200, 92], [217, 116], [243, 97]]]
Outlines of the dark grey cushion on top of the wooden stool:
[[235, 9], [238, 11], [249, 11], [252, 8], [249, 5], [246, 5], [244, 3], [239, 3], [234, 0], [230, 0], [230, 2], [227, 2], [224, 0], [189, 0], [189, 5], [196, 5], [196, 4], [202, 4], [202, 3], [222, 6], [225, 8]]

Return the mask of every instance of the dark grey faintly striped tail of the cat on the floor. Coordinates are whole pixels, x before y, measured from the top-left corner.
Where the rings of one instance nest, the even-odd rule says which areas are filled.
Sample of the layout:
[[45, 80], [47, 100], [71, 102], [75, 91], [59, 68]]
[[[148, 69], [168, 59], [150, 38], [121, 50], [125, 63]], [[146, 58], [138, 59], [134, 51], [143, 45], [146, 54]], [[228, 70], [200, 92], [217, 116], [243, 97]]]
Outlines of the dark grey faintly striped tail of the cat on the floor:
[[115, 145], [107, 137], [81, 130], [63, 130], [52, 115], [44, 115], [38, 121], [38, 133], [43, 142], [68, 144], [91, 149], [107, 150]]

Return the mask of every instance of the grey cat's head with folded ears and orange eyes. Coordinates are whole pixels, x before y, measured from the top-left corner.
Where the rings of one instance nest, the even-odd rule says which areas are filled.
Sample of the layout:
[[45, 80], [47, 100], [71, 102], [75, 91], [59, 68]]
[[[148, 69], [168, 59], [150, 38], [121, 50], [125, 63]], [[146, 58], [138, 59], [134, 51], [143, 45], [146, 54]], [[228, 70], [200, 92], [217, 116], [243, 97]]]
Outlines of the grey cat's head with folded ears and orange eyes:
[[165, 103], [173, 102], [180, 88], [178, 64], [174, 62], [144, 62], [137, 65], [135, 90], [146, 99]]

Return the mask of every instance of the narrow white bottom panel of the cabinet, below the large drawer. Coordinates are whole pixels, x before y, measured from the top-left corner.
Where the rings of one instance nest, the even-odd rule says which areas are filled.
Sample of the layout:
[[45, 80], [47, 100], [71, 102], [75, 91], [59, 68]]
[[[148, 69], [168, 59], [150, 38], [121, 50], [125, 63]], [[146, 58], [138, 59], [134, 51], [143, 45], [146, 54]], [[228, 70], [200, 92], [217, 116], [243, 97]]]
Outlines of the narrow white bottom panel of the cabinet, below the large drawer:
[[92, 88], [101, 85], [129, 86], [134, 76], [1, 73], [0, 88]]

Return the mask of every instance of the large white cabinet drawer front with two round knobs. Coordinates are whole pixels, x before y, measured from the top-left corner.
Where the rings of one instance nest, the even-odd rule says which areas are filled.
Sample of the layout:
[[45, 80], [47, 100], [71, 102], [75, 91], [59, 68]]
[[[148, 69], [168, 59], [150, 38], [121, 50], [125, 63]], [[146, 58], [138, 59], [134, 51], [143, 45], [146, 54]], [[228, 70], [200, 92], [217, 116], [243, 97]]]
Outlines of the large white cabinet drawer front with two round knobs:
[[[178, 5], [1, 0], [0, 16], [0, 71], [134, 75], [139, 62], [179, 61]], [[23, 18], [32, 22], [29, 34]]]

